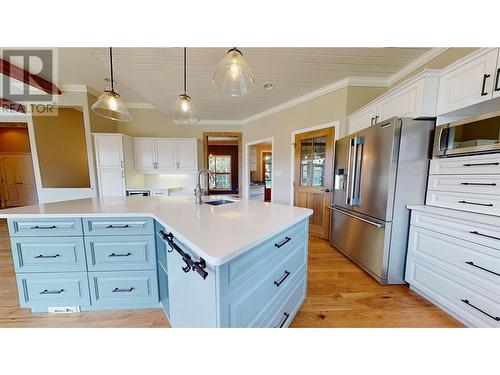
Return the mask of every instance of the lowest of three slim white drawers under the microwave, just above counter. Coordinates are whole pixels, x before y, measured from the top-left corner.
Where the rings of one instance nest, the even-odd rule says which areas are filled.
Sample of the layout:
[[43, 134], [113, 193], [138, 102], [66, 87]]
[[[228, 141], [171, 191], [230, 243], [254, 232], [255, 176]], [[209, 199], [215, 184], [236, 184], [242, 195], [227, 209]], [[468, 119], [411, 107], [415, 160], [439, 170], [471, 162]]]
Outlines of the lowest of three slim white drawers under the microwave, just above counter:
[[426, 204], [500, 216], [500, 196], [472, 193], [427, 191]]

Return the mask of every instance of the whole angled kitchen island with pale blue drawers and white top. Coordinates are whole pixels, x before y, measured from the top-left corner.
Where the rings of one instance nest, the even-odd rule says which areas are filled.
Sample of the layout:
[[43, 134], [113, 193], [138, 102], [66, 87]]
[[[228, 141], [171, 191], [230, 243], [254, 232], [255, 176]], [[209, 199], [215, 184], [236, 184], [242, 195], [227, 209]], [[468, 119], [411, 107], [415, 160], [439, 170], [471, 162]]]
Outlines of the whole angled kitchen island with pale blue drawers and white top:
[[21, 307], [162, 306], [173, 327], [288, 326], [305, 298], [311, 214], [247, 200], [196, 205], [194, 197], [0, 211]]

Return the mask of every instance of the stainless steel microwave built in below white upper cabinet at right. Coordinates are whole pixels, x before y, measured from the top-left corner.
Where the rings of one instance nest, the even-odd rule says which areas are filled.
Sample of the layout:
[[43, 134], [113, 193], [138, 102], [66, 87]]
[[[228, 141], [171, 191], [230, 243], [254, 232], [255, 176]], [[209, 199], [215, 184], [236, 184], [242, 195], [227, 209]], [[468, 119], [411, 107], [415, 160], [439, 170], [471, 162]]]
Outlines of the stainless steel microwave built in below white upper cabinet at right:
[[500, 111], [436, 127], [434, 157], [500, 152]]

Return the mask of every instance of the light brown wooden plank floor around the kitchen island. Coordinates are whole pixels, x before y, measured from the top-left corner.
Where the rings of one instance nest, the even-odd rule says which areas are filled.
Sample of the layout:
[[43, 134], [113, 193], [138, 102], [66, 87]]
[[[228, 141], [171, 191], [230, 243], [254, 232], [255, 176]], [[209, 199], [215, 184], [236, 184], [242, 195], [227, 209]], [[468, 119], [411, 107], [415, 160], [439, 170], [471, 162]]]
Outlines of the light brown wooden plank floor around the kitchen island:
[[[311, 238], [307, 298], [292, 327], [461, 327], [404, 285], [381, 286]], [[169, 327], [161, 309], [33, 314], [18, 305], [7, 227], [0, 220], [0, 327]]]

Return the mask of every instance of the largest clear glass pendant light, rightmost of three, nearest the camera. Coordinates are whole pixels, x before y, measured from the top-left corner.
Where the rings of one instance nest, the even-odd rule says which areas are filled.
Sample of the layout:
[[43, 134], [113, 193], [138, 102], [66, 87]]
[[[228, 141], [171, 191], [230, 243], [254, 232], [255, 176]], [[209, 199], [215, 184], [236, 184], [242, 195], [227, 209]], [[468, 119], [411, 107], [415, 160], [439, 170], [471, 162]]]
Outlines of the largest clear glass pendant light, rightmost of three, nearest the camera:
[[252, 71], [236, 47], [227, 51], [217, 66], [212, 81], [219, 90], [231, 96], [246, 95], [255, 87]]

